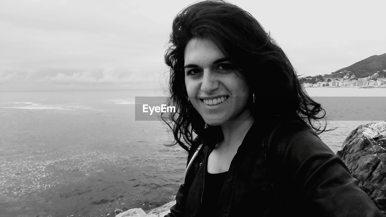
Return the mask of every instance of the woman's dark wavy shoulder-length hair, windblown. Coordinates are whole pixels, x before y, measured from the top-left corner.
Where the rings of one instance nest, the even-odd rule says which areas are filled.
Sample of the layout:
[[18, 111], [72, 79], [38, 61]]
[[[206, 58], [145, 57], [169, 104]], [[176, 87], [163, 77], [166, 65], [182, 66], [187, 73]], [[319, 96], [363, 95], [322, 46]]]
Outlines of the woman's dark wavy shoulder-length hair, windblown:
[[[319, 122], [325, 117], [325, 110], [307, 95], [288, 57], [259, 22], [236, 5], [222, 0], [207, 0], [193, 3], [176, 15], [169, 48], [164, 56], [170, 68], [166, 103], [176, 108], [176, 113], [163, 113], [161, 116], [173, 131], [175, 141], [171, 146], [179, 144], [189, 151], [197, 148], [204, 139], [212, 139], [213, 143], [222, 139], [221, 128], [206, 127], [205, 121], [188, 101], [184, 51], [193, 38], [213, 41], [245, 76], [250, 93], [256, 96], [255, 103], [252, 97], [248, 103], [255, 120], [296, 118], [317, 134], [329, 131], [326, 130], [327, 124], [322, 129]], [[254, 106], [260, 102], [264, 106]], [[193, 139], [194, 134], [200, 139]]]

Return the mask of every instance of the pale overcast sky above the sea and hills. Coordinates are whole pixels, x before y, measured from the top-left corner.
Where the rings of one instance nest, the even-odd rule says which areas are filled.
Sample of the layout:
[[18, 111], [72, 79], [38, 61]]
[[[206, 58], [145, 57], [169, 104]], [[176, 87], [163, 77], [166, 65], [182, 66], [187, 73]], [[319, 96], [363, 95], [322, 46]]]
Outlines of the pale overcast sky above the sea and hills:
[[[187, 0], [0, 0], [0, 91], [159, 88], [173, 17]], [[298, 74], [386, 53], [386, 1], [233, 0]]]

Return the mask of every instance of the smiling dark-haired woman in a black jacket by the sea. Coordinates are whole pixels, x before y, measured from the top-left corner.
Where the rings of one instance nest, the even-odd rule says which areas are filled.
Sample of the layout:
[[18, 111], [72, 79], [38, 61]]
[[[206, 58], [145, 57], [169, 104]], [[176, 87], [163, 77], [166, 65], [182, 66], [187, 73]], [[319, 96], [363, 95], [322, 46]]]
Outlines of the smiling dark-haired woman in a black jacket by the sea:
[[198, 2], [172, 28], [165, 61], [177, 114], [163, 118], [189, 154], [166, 217], [381, 216], [317, 136], [323, 108], [251, 14]]

